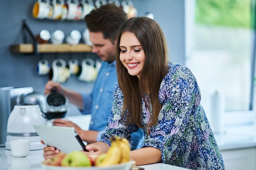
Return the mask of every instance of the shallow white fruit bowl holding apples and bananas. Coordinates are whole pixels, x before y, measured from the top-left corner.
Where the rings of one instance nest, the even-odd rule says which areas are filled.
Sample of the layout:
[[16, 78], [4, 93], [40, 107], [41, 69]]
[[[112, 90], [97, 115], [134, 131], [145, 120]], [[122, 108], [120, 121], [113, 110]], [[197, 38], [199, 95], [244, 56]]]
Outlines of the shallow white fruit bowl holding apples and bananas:
[[100, 167], [100, 166], [83, 166], [83, 167], [71, 167], [71, 166], [52, 166], [41, 163], [43, 170], [130, 170], [134, 161], [126, 163], [119, 163], [112, 166]]

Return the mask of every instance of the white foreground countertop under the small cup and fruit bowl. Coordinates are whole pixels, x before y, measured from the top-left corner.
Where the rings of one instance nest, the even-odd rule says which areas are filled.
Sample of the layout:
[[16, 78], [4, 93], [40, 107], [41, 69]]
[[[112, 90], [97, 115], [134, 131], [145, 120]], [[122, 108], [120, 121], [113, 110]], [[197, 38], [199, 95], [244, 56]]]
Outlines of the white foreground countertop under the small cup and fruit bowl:
[[[42, 170], [43, 150], [31, 150], [26, 157], [13, 157], [10, 150], [0, 147], [0, 170]], [[164, 163], [139, 166], [144, 170], [187, 170]]]

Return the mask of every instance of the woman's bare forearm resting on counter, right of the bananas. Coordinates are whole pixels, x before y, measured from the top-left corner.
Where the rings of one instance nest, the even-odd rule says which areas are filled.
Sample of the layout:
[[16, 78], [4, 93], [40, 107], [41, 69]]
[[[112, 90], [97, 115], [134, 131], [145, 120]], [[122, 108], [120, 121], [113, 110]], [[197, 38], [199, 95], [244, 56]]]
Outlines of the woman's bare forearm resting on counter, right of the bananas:
[[132, 150], [130, 157], [136, 162], [136, 165], [147, 165], [151, 163], [159, 163], [162, 161], [161, 151], [154, 147], [140, 148]]

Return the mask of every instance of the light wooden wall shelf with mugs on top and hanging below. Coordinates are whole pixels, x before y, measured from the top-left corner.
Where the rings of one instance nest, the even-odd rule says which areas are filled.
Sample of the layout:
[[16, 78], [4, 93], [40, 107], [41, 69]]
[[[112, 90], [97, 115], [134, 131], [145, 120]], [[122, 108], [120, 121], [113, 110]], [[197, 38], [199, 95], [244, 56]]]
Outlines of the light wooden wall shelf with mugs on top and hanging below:
[[[13, 44], [10, 46], [12, 53], [33, 53], [33, 44]], [[38, 44], [38, 53], [61, 52], [92, 52], [92, 46], [87, 44]]]

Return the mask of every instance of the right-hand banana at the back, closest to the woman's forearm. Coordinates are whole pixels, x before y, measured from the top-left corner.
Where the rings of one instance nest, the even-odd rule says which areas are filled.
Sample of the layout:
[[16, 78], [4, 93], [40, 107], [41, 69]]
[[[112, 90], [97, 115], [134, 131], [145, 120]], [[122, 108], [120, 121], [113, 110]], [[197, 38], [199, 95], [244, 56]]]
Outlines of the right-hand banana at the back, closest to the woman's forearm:
[[116, 142], [121, 150], [121, 159], [119, 163], [130, 161], [130, 144], [126, 138], [116, 139]]

